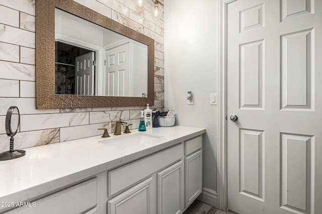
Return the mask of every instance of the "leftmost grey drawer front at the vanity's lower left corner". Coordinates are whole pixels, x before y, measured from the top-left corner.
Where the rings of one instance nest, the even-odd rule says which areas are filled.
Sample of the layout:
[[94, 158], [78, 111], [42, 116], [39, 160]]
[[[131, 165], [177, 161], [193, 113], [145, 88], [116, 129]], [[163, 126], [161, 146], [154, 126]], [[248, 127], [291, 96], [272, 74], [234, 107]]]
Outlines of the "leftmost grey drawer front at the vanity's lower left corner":
[[97, 183], [92, 178], [6, 213], [81, 213], [97, 204]]

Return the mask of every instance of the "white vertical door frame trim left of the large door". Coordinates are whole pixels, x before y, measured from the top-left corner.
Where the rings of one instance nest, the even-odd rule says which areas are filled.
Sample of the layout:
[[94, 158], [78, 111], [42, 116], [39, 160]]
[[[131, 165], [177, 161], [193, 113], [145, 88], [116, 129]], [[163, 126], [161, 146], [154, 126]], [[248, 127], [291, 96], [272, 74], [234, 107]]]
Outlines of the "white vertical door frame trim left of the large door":
[[219, 83], [217, 144], [217, 208], [227, 210], [227, 6], [237, 0], [219, 1]]

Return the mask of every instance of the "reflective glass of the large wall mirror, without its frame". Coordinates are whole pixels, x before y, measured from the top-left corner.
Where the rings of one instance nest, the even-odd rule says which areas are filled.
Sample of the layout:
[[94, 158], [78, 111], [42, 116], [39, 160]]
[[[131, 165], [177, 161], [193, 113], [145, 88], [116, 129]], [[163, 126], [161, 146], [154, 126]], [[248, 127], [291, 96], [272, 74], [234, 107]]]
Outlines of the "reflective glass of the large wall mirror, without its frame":
[[55, 9], [55, 48], [56, 94], [147, 97], [147, 45]]

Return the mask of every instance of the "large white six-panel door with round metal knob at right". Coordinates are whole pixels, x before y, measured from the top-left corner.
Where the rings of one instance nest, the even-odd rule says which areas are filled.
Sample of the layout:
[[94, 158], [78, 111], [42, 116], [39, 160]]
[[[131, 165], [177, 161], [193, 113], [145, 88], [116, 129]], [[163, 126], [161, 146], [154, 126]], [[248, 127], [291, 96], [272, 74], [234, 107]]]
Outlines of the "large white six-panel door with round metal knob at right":
[[322, 213], [322, 1], [227, 9], [228, 208]]

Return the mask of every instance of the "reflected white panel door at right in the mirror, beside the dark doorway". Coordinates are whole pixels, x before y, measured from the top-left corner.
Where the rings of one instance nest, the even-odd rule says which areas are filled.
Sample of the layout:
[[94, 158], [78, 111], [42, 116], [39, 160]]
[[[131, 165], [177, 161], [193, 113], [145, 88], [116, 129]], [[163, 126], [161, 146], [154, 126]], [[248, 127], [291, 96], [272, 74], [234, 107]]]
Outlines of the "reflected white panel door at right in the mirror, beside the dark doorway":
[[105, 95], [129, 96], [130, 63], [129, 43], [105, 51]]

